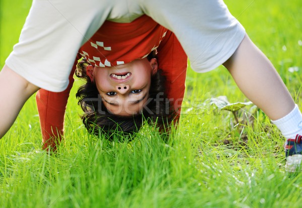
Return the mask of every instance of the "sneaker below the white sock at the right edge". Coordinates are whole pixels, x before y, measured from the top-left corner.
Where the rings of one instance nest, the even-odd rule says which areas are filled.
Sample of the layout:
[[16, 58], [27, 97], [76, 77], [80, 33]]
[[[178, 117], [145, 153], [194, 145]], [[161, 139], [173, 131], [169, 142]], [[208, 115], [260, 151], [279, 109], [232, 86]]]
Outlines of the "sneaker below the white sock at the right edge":
[[297, 134], [295, 139], [287, 139], [284, 145], [287, 172], [296, 172], [302, 170], [302, 136]]

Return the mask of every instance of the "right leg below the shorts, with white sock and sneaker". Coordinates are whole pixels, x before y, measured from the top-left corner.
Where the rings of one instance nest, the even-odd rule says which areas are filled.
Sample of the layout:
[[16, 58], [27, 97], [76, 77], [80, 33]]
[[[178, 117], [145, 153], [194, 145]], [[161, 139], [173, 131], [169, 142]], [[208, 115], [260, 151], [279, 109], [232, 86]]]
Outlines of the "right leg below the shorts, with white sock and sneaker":
[[280, 76], [246, 35], [235, 54], [223, 64], [242, 92], [257, 105], [287, 139], [285, 170], [302, 170], [302, 114]]

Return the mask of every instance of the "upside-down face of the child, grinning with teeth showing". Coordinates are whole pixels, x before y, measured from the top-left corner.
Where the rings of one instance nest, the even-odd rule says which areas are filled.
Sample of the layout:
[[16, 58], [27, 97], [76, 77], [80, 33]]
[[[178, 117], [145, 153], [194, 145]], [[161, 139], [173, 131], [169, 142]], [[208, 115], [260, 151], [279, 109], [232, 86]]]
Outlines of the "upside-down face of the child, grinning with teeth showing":
[[131, 116], [142, 111], [149, 97], [151, 76], [158, 70], [157, 59], [134, 60], [114, 67], [87, 66], [107, 110]]

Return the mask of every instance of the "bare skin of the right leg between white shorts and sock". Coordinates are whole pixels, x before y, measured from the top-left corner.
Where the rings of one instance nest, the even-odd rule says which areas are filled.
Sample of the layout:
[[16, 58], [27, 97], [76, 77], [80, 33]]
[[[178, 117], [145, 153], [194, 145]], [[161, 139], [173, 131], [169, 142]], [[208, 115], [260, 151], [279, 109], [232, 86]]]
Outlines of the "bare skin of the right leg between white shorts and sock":
[[241, 91], [270, 119], [282, 118], [294, 108], [294, 101], [275, 68], [247, 35], [223, 66]]

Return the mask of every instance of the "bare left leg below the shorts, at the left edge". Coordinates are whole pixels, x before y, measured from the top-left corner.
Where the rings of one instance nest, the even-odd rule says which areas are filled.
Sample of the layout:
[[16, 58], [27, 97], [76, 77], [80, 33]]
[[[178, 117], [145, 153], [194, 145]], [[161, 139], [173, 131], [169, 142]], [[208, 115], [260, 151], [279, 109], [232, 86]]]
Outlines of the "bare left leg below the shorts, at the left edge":
[[7, 65], [0, 72], [0, 138], [13, 125], [25, 101], [38, 90]]

